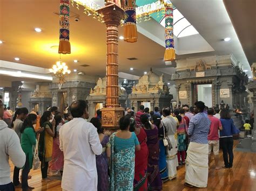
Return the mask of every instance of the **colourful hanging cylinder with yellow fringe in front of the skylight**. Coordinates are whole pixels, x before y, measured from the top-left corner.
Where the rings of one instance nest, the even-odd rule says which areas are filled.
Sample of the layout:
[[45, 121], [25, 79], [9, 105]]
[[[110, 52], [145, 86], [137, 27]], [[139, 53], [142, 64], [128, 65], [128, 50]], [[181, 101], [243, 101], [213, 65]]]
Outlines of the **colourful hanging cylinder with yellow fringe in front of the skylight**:
[[165, 8], [165, 53], [164, 61], [175, 60], [175, 49], [173, 40], [173, 8], [167, 4]]

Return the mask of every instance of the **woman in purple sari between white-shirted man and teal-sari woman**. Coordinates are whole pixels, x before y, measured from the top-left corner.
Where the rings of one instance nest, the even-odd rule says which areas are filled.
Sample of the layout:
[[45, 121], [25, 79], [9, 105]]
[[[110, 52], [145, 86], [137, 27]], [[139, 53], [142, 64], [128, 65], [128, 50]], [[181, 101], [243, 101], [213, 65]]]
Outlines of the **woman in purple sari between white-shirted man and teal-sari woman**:
[[96, 128], [99, 135], [100, 144], [102, 144], [102, 154], [96, 155], [96, 166], [98, 173], [98, 191], [104, 191], [109, 188], [109, 174], [108, 165], [110, 158], [110, 146], [109, 146], [109, 136], [103, 134], [102, 124], [100, 119], [97, 117], [91, 118], [90, 123], [92, 123]]

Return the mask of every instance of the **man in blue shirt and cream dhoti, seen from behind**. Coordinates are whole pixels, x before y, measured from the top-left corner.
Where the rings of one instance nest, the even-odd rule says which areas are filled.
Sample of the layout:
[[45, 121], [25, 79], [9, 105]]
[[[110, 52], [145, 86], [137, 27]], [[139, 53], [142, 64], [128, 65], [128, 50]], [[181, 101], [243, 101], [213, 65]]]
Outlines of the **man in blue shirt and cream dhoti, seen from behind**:
[[187, 135], [190, 144], [187, 148], [185, 186], [206, 188], [208, 181], [208, 132], [211, 121], [204, 114], [204, 102], [194, 103], [196, 115], [190, 120]]

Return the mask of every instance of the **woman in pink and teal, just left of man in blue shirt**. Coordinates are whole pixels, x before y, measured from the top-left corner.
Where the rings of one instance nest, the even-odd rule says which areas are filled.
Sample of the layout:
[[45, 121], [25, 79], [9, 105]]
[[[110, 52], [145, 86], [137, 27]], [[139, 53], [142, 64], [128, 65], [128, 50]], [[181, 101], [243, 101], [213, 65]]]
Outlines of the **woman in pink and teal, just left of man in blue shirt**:
[[[187, 133], [187, 123], [184, 117], [180, 115], [176, 116], [179, 120], [179, 127], [177, 129], [178, 134], [178, 162], [179, 165], [185, 165], [185, 157], [186, 157], [186, 133]], [[180, 161], [181, 157], [181, 161]]]

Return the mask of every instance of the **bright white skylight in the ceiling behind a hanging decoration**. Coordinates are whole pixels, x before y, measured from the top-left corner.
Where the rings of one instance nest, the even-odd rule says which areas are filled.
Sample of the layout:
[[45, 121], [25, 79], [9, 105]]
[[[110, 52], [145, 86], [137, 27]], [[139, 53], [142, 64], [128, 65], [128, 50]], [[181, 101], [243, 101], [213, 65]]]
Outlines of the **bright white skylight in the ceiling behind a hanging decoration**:
[[[160, 24], [165, 27], [164, 17], [161, 19]], [[197, 30], [177, 9], [173, 10], [173, 34], [178, 38], [198, 34]]]

